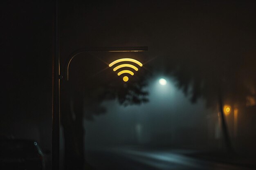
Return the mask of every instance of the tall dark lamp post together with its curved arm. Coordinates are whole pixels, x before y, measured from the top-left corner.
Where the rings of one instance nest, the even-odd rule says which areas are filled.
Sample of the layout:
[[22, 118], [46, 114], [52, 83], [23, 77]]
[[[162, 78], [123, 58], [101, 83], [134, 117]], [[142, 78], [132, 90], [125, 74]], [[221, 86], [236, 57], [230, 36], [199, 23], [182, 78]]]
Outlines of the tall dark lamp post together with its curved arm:
[[[60, 67], [59, 57], [59, 0], [53, 3], [53, 61], [52, 61], [52, 170], [59, 170], [60, 142], [60, 80], [68, 81], [68, 69], [72, 59], [80, 53], [92, 52], [140, 52], [148, 51], [147, 46], [84, 48], [74, 51], [68, 58], [65, 68]], [[64, 72], [63, 75], [61, 75]], [[124, 81], [128, 81], [125, 77]]]

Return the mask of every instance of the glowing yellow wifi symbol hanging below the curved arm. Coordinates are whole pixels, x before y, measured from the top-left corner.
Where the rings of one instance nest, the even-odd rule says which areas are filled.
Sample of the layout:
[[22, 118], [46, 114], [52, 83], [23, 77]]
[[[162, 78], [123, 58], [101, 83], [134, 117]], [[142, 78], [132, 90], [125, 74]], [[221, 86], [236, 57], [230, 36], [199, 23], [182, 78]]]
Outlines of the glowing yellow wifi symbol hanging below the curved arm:
[[[134, 62], [134, 63], [138, 64], [139, 66], [142, 66], [141, 62], [139, 62], [139, 61], [137, 61], [137, 60], [134, 60], [134, 59], [132, 59], [132, 58], [121, 58], [121, 59], [119, 59], [119, 60], [115, 60], [115, 61], [113, 61], [112, 63], [110, 63], [109, 66], [111, 67], [111, 66], [113, 66], [114, 64], [117, 64], [117, 63], [119, 63], [119, 62]], [[132, 64], [121, 64], [121, 65], [116, 66], [116, 67], [113, 69], [113, 71], [117, 71], [117, 69], [123, 68], [123, 67], [130, 67], [130, 68], [133, 68], [135, 71], [138, 71], [138, 70], [139, 70], [136, 66], [134, 66], [134, 65], [132, 65]], [[121, 75], [121, 74], [124, 74], [124, 73], [129, 73], [130, 75], [134, 75], [134, 73], [133, 73], [132, 71], [130, 71], [130, 70], [122, 70], [122, 71], [118, 72], [117, 75]], [[128, 79], [129, 79], [129, 78], [128, 78], [127, 76], [124, 76], [124, 77], [123, 77], [124, 82], [127, 82]]]

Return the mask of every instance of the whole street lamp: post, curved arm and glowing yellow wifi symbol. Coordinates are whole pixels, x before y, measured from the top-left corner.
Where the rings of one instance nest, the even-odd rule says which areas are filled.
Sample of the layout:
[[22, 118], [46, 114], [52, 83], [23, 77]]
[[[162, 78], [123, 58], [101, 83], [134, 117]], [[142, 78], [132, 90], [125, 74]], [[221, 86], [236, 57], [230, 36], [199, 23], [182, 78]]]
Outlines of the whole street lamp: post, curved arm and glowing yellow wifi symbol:
[[[56, 5], [56, 13], [55, 13], [55, 22], [56, 25], [58, 25], [57, 18], [58, 18], [58, 1], [54, 3]], [[67, 84], [67, 81], [69, 80], [69, 66], [74, 57], [81, 53], [97, 53], [97, 52], [142, 52], [142, 51], [148, 51], [147, 46], [125, 46], [125, 47], [99, 47], [99, 48], [83, 48], [78, 49], [70, 54], [70, 56], [67, 59], [65, 68], [60, 67], [59, 62], [59, 37], [58, 37], [58, 31], [57, 26], [54, 27], [54, 55], [53, 55], [53, 110], [52, 110], [52, 169], [53, 170], [59, 170], [59, 135], [60, 135], [60, 91], [65, 91], [65, 84]], [[139, 66], [142, 66], [142, 64], [134, 59], [130, 58], [123, 58], [120, 60], [116, 60], [112, 62], [112, 65], [122, 62], [122, 61], [128, 61], [128, 62], [134, 62]], [[133, 66], [132, 64], [121, 64], [119, 66], [116, 66], [113, 71], [116, 71], [119, 68], [123, 67], [130, 67], [133, 68], [135, 71], [138, 71], [138, 68]], [[129, 73], [130, 75], [133, 75], [134, 73], [132, 71], [123, 70], [120, 71], [117, 75], [121, 75], [123, 73]], [[124, 82], [128, 81], [128, 77], [124, 76], [123, 80]], [[60, 84], [61, 82], [61, 84]], [[62, 90], [60, 90], [62, 89]], [[64, 96], [64, 97], [63, 97]], [[63, 98], [65, 98], [65, 95], [62, 95]]]

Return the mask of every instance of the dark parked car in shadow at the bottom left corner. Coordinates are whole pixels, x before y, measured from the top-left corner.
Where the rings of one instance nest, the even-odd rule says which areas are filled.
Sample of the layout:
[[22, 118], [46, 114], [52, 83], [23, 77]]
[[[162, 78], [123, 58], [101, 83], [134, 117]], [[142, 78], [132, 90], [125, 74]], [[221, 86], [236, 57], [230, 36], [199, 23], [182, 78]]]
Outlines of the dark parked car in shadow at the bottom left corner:
[[0, 140], [0, 170], [44, 170], [44, 155], [33, 140]]

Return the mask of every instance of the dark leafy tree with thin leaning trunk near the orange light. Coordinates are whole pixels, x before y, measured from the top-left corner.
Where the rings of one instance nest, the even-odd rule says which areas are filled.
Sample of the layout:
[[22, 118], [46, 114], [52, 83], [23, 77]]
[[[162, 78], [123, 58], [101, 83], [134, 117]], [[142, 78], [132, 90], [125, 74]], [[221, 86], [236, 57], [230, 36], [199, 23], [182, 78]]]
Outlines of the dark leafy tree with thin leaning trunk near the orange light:
[[202, 97], [207, 107], [218, 106], [225, 145], [232, 152], [223, 106], [228, 102], [237, 108], [245, 107], [247, 97], [255, 97], [256, 51], [233, 40], [237, 30], [229, 30], [227, 35], [227, 30], [222, 31], [214, 32], [212, 42], [203, 39], [193, 43], [195, 40], [188, 38], [188, 46], [177, 47], [165, 63], [166, 71], [177, 79], [178, 87], [190, 96], [191, 102]]

